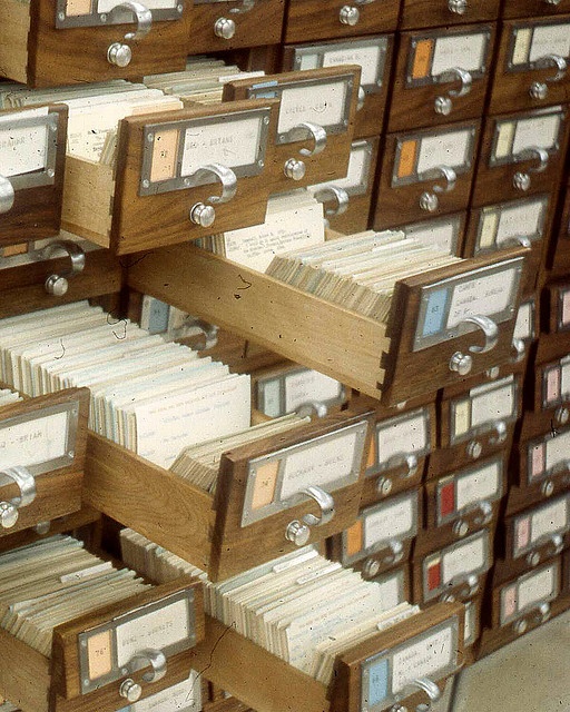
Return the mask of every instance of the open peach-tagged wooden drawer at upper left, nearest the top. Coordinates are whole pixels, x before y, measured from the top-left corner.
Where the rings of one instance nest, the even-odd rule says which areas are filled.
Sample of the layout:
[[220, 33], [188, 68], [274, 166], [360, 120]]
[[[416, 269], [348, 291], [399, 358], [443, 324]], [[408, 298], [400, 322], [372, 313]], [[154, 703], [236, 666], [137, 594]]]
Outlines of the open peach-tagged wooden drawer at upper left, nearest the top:
[[263, 222], [276, 105], [124, 119], [115, 171], [68, 157], [63, 226], [124, 255]]

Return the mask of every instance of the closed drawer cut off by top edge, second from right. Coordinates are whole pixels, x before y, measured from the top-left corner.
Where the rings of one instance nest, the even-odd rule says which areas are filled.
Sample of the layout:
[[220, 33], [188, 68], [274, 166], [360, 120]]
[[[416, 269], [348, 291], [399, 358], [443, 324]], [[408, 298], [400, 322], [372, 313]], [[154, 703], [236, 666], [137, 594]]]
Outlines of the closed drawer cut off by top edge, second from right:
[[489, 22], [499, 16], [498, 0], [403, 0], [400, 24], [404, 30], [425, 27], [453, 27], [465, 22]]

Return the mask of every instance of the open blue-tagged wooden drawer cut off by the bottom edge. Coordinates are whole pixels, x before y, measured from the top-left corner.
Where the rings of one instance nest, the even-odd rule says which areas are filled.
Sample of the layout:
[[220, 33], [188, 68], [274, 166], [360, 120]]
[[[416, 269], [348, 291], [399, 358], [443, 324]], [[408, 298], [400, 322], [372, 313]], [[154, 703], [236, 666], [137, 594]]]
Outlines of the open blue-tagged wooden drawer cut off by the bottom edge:
[[382, 712], [399, 703], [415, 709], [430, 701], [423, 690], [441, 694], [461, 669], [463, 630], [462, 605], [422, 611], [340, 655], [325, 686], [207, 615], [193, 668], [207, 666], [209, 680], [264, 712]]

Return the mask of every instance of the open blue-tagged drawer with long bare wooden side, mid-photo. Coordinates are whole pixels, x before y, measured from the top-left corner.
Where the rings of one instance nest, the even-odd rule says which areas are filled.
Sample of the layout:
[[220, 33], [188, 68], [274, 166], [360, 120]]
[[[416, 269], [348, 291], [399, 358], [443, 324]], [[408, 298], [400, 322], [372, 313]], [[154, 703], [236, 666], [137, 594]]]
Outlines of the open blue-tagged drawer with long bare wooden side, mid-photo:
[[146, 255], [127, 280], [390, 405], [509, 362], [525, 253], [397, 283], [387, 325], [193, 245]]

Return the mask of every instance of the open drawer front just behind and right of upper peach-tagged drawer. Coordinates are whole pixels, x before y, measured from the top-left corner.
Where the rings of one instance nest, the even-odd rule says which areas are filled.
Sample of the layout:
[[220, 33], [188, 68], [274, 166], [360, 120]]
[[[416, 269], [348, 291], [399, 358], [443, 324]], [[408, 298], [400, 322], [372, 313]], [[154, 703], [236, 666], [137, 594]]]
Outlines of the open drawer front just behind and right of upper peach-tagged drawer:
[[265, 181], [272, 192], [344, 178], [348, 169], [361, 68], [328, 67], [242, 79], [224, 100], [279, 99], [275, 151]]

